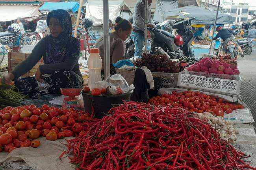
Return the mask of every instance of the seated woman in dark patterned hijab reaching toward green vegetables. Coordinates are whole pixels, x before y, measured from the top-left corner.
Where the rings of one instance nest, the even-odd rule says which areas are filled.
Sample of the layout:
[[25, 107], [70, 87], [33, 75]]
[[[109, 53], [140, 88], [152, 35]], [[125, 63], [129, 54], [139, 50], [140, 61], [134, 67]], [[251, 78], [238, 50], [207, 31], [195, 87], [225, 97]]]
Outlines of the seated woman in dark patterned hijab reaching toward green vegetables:
[[[47, 93], [59, 93], [60, 88], [75, 88], [83, 85], [78, 59], [80, 42], [72, 37], [70, 14], [62, 9], [52, 11], [47, 16], [51, 34], [35, 45], [30, 56], [4, 76], [5, 83], [14, 80], [15, 85], [30, 97]], [[42, 58], [44, 65], [39, 66], [35, 77], [19, 78], [30, 71]], [[47, 92], [36, 90], [38, 82], [49, 84]]]

